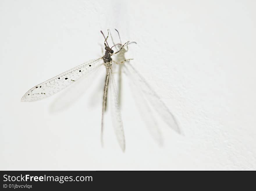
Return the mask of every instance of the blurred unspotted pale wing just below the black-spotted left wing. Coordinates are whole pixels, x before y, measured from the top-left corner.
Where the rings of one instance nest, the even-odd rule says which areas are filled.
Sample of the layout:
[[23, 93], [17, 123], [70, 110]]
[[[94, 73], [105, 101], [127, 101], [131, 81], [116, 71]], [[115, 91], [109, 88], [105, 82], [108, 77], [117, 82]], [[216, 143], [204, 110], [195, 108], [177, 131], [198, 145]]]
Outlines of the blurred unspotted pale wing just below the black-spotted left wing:
[[[58, 112], [69, 108], [74, 102], [88, 90], [93, 82], [93, 78], [98, 75], [99, 68], [101, 65], [97, 65], [93, 71], [88, 74], [84, 74], [72, 86], [69, 86], [63, 93], [61, 93], [51, 104], [51, 112]], [[94, 95], [95, 97], [95, 95]], [[98, 100], [97, 100], [98, 101]]]

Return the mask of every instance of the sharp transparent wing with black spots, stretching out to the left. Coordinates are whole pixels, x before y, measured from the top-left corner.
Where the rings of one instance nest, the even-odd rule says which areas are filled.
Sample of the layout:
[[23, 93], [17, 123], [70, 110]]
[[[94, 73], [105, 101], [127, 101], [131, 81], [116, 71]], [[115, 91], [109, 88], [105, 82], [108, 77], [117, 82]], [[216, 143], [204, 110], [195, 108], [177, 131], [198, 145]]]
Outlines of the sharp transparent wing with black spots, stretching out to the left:
[[87, 74], [101, 64], [101, 60], [102, 58], [90, 60], [36, 85], [24, 94], [21, 101], [37, 101], [63, 90], [68, 85], [78, 80], [81, 76]]

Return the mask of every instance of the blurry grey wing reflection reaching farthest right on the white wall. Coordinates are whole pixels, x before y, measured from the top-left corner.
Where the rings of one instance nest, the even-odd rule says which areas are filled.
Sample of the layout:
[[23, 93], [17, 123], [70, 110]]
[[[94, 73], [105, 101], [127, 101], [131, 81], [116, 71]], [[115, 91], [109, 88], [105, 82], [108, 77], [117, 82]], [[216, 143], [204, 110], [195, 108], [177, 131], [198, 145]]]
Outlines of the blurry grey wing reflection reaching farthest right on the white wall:
[[143, 95], [149, 103], [153, 106], [153, 108], [159, 113], [160, 117], [164, 122], [177, 133], [182, 134], [179, 124], [175, 119], [174, 115], [170, 112], [168, 107], [163, 103], [157, 93], [152, 90], [150, 85], [145, 81], [145, 79], [134, 69], [134, 67], [130, 63], [126, 63], [125, 65], [126, 73], [131, 78], [131, 80], [136, 81], [136, 85], [141, 89]]

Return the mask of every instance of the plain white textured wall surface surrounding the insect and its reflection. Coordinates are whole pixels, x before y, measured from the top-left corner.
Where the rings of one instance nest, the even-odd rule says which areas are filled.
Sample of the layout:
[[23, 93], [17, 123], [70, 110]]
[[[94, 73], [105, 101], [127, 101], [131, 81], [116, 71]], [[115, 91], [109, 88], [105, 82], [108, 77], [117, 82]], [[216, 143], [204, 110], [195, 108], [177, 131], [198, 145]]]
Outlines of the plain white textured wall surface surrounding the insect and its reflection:
[[[256, 169], [255, 1], [0, 1], [0, 169]], [[124, 82], [126, 152], [102, 91], [60, 113], [55, 96], [20, 102], [34, 85], [101, 56], [100, 30], [136, 41], [127, 58], [179, 120], [151, 138]], [[115, 39], [117, 36], [115, 35]], [[99, 77], [100, 78], [100, 77]], [[75, 92], [74, 92], [75, 93]], [[92, 103], [95, 102], [95, 103]]]

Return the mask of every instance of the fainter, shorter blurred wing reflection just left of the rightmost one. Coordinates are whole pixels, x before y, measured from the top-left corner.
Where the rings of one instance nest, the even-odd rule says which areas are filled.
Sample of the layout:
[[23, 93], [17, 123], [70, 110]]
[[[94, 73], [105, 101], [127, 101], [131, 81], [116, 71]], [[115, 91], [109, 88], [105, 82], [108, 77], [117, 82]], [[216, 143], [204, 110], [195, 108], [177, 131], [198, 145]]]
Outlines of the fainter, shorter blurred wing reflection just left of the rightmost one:
[[130, 79], [130, 87], [131, 92], [134, 96], [134, 100], [136, 105], [138, 106], [139, 113], [145, 122], [147, 129], [150, 135], [154, 138], [154, 140], [159, 144], [163, 144], [163, 138], [161, 131], [157, 125], [155, 117], [152, 113], [150, 106], [146, 99], [144, 99], [143, 92], [138, 86], [136, 86], [136, 81]]

